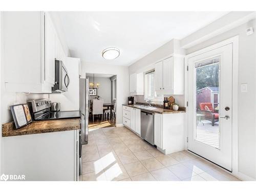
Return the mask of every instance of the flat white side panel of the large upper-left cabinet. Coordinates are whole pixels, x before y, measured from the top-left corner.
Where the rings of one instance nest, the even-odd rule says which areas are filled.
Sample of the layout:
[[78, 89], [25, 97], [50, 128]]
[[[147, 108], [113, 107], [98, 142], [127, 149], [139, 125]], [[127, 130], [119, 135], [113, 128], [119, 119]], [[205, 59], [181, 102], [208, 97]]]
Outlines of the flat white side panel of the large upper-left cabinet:
[[[1, 12], [1, 16], [1, 66], [4, 66], [6, 90], [40, 92], [44, 80], [41, 78], [44, 14], [39, 11], [7, 11]], [[28, 72], [29, 75], [25, 75]]]

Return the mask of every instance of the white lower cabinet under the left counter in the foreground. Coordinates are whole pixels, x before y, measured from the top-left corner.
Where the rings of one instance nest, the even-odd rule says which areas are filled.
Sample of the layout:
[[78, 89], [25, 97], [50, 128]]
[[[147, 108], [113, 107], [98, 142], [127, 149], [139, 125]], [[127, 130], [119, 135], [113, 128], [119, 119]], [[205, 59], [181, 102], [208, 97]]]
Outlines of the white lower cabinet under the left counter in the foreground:
[[26, 181], [77, 181], [79, 130], [3, 137], [6, 175]]

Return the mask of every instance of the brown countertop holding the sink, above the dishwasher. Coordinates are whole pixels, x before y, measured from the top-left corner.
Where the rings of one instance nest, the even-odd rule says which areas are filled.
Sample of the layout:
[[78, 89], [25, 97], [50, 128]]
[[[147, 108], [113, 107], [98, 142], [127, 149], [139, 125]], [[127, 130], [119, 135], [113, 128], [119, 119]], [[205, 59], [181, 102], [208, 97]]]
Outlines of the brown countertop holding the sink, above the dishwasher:
[[130, 106], [131, 108], [136, 108], [136, 109], [154, 112], [154, 113], [160, 113], [160, 114], [185, 113], [186, 112], [186, 108], [183, 108], [183, 107], [180, 107], [178, 111], [174, 111], [174, 110], [169, 110], [169, 109], [163, 109], [163, 108], [160, 108], [159, 106], [152, 106], [153, 108], [156, 108], [156, 109], [147, 109], [147, 108], [144, 109], [144, 108], [139, 107], [139, 105], [142, 105], [142, 104], [123, 104], [123, 105]]

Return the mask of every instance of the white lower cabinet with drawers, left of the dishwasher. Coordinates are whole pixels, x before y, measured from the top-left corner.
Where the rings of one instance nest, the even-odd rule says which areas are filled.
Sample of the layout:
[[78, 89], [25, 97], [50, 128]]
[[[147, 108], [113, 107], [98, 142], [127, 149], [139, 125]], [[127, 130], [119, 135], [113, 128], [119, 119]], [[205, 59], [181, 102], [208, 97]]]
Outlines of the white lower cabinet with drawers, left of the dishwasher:
[[123, 106], [123, 125], [140, 135], [140, 110]]

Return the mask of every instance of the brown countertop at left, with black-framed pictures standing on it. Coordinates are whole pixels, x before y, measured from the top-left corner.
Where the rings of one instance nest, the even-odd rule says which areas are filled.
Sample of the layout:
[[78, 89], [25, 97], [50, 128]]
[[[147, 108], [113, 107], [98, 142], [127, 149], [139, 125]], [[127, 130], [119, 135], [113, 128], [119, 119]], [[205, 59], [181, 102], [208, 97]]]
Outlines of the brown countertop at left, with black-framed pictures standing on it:
[[80, 129], [80, 118], [33, 121], [27, 126], [15, 129], [14, 122], [2, 124], [2, 136], [30, 135], [38, 133], [50, 133], [71, 131]]

